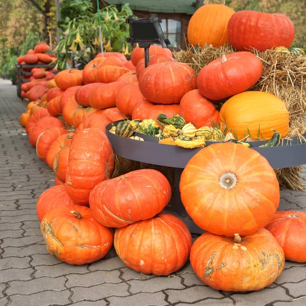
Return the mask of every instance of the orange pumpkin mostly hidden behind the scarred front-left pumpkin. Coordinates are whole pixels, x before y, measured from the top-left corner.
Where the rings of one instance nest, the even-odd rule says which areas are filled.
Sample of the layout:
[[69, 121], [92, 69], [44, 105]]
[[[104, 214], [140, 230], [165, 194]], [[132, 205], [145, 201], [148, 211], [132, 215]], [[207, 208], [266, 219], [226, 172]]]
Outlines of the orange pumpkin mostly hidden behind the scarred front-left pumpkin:
[[65, 185], [50, 187], [37, 200], [36, 212], [38, 220], [41, 222], [42, 218], [50, 210], [74, 204], [66, 191]]

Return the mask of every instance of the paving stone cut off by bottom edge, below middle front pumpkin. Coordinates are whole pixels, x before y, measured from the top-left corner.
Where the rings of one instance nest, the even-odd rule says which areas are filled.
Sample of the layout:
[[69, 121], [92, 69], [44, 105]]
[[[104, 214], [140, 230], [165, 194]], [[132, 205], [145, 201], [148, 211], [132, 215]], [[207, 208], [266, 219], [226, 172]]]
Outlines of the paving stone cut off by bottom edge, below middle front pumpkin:
[[162, 292], [156, 293], [139, 293], [126, 297], [113, 296], [109, 297], [110, 306], [165, 306], [169, 305], [165, 301], [165, 295]]

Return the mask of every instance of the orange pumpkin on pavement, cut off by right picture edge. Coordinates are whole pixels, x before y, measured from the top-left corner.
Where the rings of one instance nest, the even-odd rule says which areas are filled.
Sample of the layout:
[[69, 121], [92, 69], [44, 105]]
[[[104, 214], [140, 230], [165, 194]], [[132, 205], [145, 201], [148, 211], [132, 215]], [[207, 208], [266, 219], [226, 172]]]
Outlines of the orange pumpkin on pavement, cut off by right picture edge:
[[306, 262], [306, 213], [299, 211], [276, 212], [266, 229], [283, 248], [286, 260]]

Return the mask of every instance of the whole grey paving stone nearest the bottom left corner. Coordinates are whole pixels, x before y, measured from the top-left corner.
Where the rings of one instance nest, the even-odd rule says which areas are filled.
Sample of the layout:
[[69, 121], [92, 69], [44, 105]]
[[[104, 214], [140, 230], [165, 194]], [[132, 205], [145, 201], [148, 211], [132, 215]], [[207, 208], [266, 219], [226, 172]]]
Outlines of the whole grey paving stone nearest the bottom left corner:
[[66, 278], [60, 277], [39, 277], [30, 281], [9, 282], [10, 288], [6, 291], [7, 295], [12, 294], [33, 294], [45, 290], [62, 291], [65, 290]]

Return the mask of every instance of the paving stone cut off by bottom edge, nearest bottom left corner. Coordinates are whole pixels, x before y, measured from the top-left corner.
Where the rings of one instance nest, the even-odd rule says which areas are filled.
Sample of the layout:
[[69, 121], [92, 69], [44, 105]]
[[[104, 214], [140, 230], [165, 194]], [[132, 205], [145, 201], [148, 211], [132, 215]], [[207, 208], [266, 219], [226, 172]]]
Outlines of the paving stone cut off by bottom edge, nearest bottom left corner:
[[70, 303], [68, 300], [69, 296], [70, 292], [68, 290], [59, 292], [46, 290], [44, 292], [31, 295], [16, 294], [10, 297], [12, 300], [10, 306], [20, 306], [27, 304], [31, 306], [66, 305]]

